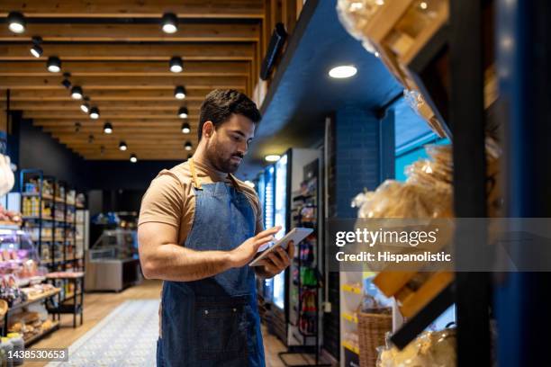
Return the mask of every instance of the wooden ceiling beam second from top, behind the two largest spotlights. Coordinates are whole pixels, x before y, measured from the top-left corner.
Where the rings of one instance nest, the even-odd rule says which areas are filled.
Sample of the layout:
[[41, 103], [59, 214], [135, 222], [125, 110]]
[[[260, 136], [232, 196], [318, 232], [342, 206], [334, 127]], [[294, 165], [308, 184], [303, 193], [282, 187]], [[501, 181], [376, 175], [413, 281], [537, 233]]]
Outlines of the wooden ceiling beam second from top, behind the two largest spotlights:
[[140, 23], [33, 23], [28, 22], [23, 34], [15, 34], [7, 27], [0, 27], [0, 41], [31, 41], [40, 34], [44, 42], [257, 42], [258, 23], [185, 23], [178, 31], [167, 34], [160, 24]]

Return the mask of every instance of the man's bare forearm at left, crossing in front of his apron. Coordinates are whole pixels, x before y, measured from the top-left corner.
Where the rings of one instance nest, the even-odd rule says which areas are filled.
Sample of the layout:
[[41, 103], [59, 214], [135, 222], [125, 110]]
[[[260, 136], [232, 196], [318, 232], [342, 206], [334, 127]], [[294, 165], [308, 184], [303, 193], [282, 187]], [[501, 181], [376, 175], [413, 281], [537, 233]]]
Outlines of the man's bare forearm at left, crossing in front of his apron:
[[195, 251], [172, 244], [158, 246], [145, 258], [146, 277], [163, 281], [198, 281], [232, 267], [229, 252]]

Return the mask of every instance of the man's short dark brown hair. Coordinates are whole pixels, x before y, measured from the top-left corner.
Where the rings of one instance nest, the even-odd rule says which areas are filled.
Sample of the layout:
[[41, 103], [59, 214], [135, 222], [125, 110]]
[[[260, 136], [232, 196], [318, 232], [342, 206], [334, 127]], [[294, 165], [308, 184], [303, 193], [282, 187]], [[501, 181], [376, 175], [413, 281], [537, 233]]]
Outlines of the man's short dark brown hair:
[[243, 115], [254, 123], [258, 123], [262, 118], [257, 105], [247, 95], [235, 89], [214, 89], [207, 94], [201, 104], [199, 114], [199, 140], [203, 135], [204, 122], [212, 121], [216, 129], [222, 123], [228, 121], [234, 113]]

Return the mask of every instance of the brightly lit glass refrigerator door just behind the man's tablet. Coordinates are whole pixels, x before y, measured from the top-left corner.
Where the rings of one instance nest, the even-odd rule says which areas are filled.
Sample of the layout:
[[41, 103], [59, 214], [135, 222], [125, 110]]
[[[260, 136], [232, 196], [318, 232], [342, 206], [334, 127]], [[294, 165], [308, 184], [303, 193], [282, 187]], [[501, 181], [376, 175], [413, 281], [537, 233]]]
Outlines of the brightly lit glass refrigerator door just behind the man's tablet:
[[[285, 236], [285, 219], [287, 216], [287, 156], [281, 157], [276, 162], [276, 201], [275, 201], [275, 223], [281, 226], [276, 238]], [[274, 304], [279, 309], [285, 309], [285, 272], [274, 277]]]

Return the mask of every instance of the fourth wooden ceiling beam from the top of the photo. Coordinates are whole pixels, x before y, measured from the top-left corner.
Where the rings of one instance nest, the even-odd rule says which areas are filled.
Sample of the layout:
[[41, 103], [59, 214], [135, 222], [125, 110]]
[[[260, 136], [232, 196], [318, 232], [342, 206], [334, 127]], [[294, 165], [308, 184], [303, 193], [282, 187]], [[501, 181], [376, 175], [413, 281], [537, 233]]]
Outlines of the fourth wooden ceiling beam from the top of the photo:
[[[248, 61], [189, 61], [180, 76], [248, 76]], [[176, 76], [167, 61], [68, 61], [71, 76]], [[0, 76], [52, 76], [44, 61], [0, 62]]]

